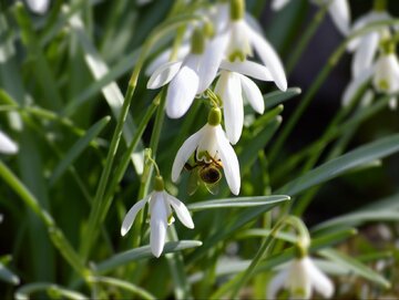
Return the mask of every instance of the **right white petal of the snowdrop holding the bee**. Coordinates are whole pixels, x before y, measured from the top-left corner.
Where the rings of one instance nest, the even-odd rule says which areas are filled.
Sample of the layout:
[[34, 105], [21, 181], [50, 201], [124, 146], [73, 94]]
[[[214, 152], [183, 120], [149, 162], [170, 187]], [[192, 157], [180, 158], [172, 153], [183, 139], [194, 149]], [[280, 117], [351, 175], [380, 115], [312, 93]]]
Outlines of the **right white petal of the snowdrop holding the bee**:
[[228, 143], [225, 133], [221, 125], [216, 128], [218, 155], [223, 164], [223, 170], [226, 176], [226, 182], [234, 195], [239, 194], [241, 177], [239, 177], [239, 165], [237, 155], [235, 154], [232, 145]]

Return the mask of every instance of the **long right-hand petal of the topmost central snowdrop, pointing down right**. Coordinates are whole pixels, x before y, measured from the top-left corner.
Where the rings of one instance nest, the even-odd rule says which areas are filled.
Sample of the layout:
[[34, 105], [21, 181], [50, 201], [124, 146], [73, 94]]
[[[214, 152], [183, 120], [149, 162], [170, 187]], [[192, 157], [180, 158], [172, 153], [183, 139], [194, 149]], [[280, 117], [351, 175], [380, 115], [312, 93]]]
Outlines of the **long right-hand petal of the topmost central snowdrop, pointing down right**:
[[250, 42], [254, 45], [256, 52], [258, 53], [262, 62], [270, 71], [273, 80], [275, 81], [278, 89], [285, 92], [287, 90], [287, 79], [284, 72], [283, 64], [276, 51], [266, 41], [266, 39], [264, 39], [262, 35], [256, 33], [248, 25], [246, 28]]

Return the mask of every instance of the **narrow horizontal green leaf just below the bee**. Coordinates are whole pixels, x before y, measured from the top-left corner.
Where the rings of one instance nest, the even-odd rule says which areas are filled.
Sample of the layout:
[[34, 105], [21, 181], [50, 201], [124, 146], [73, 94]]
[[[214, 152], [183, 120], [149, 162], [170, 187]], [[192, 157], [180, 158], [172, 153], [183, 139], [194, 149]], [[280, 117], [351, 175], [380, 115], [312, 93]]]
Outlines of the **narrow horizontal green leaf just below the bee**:
[[273, 195], [273, 196], [258, 196], [258, 197], [239, 197], [239, 198], [227, 198], [207, 200], [187, 205], [190, 210], [204, 210], [214, 208], [228, 208], [228, 207], [249, 207], [249, 206], [267, 206], [280, 201], [289, 200], [288, 196], [285, 195]]

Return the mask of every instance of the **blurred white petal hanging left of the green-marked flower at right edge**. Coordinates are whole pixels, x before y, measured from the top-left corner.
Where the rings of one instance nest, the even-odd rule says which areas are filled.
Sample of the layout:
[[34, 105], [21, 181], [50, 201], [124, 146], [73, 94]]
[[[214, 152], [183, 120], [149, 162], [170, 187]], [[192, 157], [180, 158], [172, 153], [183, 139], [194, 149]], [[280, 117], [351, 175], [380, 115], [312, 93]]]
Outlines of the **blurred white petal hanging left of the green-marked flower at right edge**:
[[352, 60], [352, 76], [357, 77], [365, 69], [369, 69], [372, 65], [374, 58], [378, 50], [379, 34], [371, 32], [365, 35], [358, 50], [354, 54]]

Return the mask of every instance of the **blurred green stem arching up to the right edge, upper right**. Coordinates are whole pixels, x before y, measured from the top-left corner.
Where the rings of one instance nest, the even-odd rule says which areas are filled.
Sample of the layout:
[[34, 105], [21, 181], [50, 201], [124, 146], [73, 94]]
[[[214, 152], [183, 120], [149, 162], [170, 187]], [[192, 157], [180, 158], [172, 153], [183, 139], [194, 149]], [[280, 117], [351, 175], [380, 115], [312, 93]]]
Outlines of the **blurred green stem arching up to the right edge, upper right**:
[[346, 52], [347, 44], [352, 39], [355, 39], [355, 38], [357, 38], [359, 35], [366, 34], [367, 32], [374, 31], [374, 30], [376, 30], [376, 29], [378, 29], [380, 27], [395, 25], [395, 24], [399, 24], [399, 21], [398, 20], [386, 20], [386, 21], [374, 22], [372, 24], [370, 24], [370, 25], [368, 25], [368, 27], [366, 27], [364, 29], [357, 30], [356, 32], [350, 34], [348, 37], [348, 39], [346, 39], [338, 46], [338, 49], [330, 55], [327, 63], [323, 68], [321, 72], [317, 75], [314, 84], [310, 86], [308, 92], [305, 94], [304, 99], [300, 101], [300, 104], [295, 110], [294, 114], [289, 117], [288, 123], [286, 124], [286, 126], [282, 131], [282, 133], [278, 135], [276, 142], [274, 143], [274, 145], [273, 145], [273, 147], [272, 147], [272, 149], [269, 152], [269, 159], [270, 159], [272, 164], [275, 163], [275, 161], [277, 158], [277, 155], [280, 153], [280, 149], [282, 149], [285, 141], [287, 139], [287, 137], [289, 136], [291, 131], [294, 130], [296, 123], [299, 121], [300, 116], [303, 115], [303, 113], [305, 112], [307, 106], [310, 104], [310, 102], [314, 99], [315, 94], [320, 89], [320, 86], [324, 84], [324, 82], [328, 77], [328, 74], [331, 72], [331, 70], [336, 66], [336, 64], [338, 63], [340, 58]]

